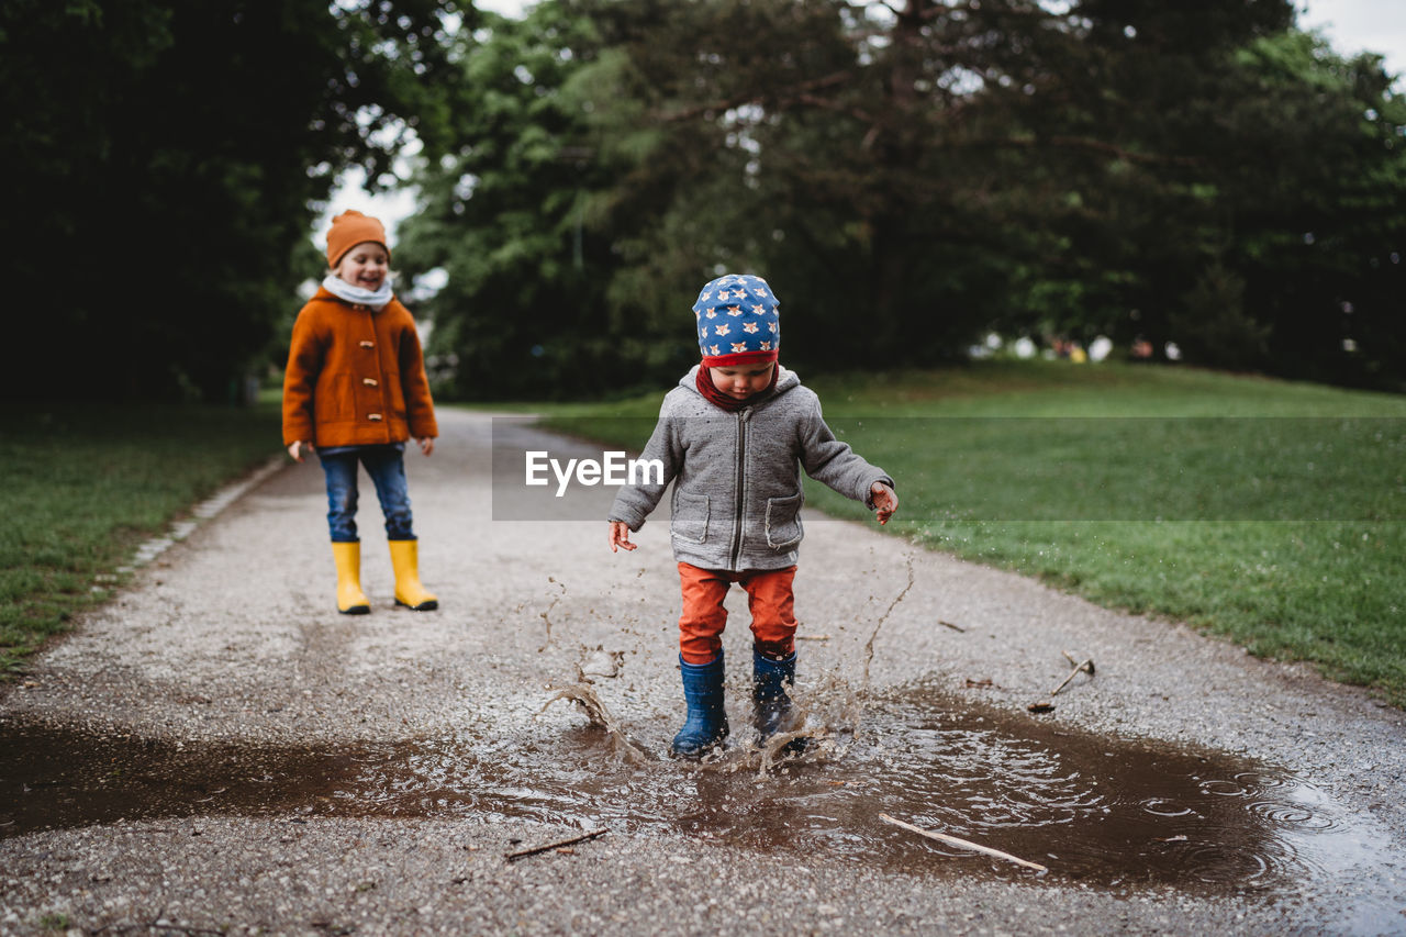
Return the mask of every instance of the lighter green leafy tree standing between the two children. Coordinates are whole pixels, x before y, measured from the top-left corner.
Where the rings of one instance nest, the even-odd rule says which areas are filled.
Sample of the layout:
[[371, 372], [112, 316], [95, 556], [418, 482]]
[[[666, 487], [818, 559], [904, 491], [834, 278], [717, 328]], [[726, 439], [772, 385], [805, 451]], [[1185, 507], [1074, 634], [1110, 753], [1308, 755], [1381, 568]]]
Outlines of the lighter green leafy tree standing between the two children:
[[420, 208], [398, 263], [447, 286], [416, 302], [434, 321], [436, 391], [461, 398], [600, 393], [650, 349], [606, 301], [609, 238], [588, 225], [605, 184], [589, 100], [572, 89], [599, 41], [589, 20], [541, 4], [463, 32], [457, 144], [416, 176]]

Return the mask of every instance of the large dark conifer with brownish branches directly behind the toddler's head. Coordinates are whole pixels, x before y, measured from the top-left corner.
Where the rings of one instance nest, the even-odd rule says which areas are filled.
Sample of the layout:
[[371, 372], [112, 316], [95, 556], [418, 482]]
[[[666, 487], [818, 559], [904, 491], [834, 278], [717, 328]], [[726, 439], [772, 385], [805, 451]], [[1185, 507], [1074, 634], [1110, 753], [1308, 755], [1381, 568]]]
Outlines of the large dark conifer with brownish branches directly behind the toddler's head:
[[619, 153], [607, 217], [631, 232], [617, 280], [657, 286], [621, 301], [686, 297], [676, 317], [713, 273], [755, 270], [804, 317], [787, 360], [825, 367], [949, 360], [1001, 308], [983, 158], [942, 145], [963, 132], [929, 53], [943, 7], [582, 6], [619, 51], [598, 69], [600, 121], [647, 144]]

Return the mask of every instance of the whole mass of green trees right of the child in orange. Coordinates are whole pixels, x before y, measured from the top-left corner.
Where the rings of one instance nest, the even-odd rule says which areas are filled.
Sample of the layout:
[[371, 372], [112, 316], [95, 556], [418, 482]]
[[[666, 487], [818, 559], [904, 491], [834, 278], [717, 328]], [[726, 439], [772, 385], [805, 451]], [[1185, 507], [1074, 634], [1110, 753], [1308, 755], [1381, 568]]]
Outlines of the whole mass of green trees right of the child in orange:
[[411, 224], [450, 272], [453, 393], [664, 380], [727, 269], [773, 283], [800, 367], [932, 364], [994, 328], [1399, 387], [1381, 62], [1286, 0], [1053, 6], [547, 0], [465, 41], [456, 158]]

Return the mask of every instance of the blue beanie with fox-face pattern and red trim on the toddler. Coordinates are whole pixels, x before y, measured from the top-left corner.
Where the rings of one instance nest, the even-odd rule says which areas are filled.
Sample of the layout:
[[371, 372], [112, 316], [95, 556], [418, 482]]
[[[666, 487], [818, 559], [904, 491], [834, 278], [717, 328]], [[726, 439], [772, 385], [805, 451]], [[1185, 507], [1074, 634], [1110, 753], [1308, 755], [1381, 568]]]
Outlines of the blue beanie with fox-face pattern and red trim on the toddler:
[[782, 348], [776, 307], [761, 277], [727, 273], [703, 287], [693, 304], [703, 367], [775, 362]]

